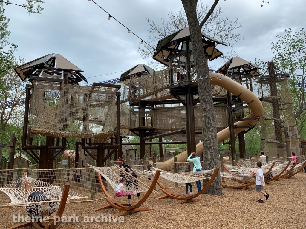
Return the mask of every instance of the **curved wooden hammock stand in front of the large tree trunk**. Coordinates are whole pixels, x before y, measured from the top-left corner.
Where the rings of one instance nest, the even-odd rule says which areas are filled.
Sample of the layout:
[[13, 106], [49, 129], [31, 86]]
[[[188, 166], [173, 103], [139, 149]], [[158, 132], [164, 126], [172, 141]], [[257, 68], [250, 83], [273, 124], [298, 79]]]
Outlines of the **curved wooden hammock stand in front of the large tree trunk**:
[[[162, 184], [157, 181], [157, 184], [159, 185], [159, 187], [161, 187], [162, 192], [165, 193], [166, 195], [164, 196], [160, 196], [158, 199], [165, 199], [165, 198], [172, 198], [172, 199], [176, 199], [176, 200], [181, 200], [179, 202], [177, 202], [177, 204], [182, 204], [182, 203], [186, 203], [186, 202], [190, 202], [190, 201], [196, 201], [196, 200], [202, 200], [202, 199], [198, 199], [197, 197], [202, 194], [204, 191], [207, 190], [207, 188], [211, 185], [211, 183], [215, 180], [215, 177], [217, 176], [219, 171], [219, 168], [217, 167], [214, 171], [214, 173], [212, 174], [211, 178], [209, 179], [208, 183], [202, 188], [201, 191], [199, 191], [198, 193], [191, 195], [191, 196], [182, 196], [182, 195], [177, 195], [174, 194], [173, 192], [171, 192], [170, 190], [166, 189], [164, 186], [162, 186]], [[156, 174], [156, 173], [155, 173]], [[155, 175], [156, 176], [156, 175]]]

